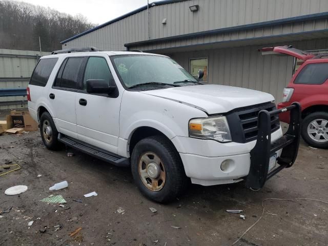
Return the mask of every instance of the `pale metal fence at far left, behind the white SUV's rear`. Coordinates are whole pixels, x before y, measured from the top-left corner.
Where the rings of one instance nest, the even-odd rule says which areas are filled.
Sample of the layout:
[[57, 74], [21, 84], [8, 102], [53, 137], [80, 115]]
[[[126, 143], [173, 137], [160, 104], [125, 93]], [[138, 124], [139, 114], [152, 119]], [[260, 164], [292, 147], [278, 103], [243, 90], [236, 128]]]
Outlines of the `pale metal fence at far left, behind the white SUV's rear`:
[[[50, 52], [0, 49], [0, 88], [26, 88], [38, 58], [48, 54]], [[0, 97], [0, 110], [26, 107], [26, 102], [10, 104], [10, 101], [25, 100], [23, 96]]]

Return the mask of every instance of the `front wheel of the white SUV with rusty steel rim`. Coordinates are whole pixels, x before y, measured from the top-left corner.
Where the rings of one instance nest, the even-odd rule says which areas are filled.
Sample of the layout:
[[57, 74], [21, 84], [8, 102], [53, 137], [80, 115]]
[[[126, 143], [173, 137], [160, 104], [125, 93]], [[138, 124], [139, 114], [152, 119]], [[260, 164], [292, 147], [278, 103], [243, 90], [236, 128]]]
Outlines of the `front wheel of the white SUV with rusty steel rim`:
[[189, 184], [178, 152], [164, 136], [150, 136], [136, 144], [131, 170], [141, 193], [156, 202], [172, 201]]

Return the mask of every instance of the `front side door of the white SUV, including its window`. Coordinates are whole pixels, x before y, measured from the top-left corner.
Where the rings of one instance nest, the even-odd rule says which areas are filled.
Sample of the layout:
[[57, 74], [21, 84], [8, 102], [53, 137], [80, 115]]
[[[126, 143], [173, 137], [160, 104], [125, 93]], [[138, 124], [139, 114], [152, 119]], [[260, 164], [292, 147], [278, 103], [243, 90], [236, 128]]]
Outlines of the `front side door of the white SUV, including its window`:
[[89, 94], [88, 79], [114, 81], [108, 56], [90, 56], [85, 67], [80, 90], [76, 93], [77, 137], [98, 148], [117, 153], [120, 93], [117, 97], [107, 94]]

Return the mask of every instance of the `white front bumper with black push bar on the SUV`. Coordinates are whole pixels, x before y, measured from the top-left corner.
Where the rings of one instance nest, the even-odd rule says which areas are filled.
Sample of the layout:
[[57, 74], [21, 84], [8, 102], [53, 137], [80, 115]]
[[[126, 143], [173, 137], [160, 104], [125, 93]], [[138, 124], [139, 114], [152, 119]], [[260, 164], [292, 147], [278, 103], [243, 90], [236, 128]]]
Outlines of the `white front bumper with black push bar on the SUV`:
[[[300, 136], [299, 109], [299, 104], [286, 109], [292, 110], [293, 124], [285, 135], [282, 135], [281, 129], [271, 134], [270, 117], [285, 111], [280, 109], [272, 112], [260, 111], [257, 140], [252, 142], [220, 144], [213, 140], [187, 137], [172, 140], [183, 146], [178, 151], [186, 174], [193, 183], [211, 186], [245, 179], [247, 186], [258, 189], [278, 171], [293, 165]], [[275, 153], [279, 165], [268, 174], [269, 160]], [[229, 162], [228, 169], [224, 171], [220, 168], [223, 161]]]

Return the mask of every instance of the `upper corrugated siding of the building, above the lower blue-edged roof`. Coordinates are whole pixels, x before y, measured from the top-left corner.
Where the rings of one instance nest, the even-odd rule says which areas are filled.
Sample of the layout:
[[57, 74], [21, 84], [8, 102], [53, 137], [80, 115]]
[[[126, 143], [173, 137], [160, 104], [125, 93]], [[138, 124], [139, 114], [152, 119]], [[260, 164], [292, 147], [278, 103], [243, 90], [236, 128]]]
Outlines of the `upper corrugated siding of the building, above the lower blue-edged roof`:
[[[196, 4], [199, 5], [199, 10], [191, 12], [189, 6]], [[150, 38], [169, 37], [320, 12], [328, 12], [327, 0], [182, 1], [150, 8]], [[161, 24], [163, 18], [167, 18], [166, 25]], [[288, 26], [276, 31], [289, 32], [291, 29]], [[147, 10], [144, 10], [73, 39], [63, 45], [63, 48], [96, 46], [102, 50], [125, 50], [124, 44], [147, 39]]]

